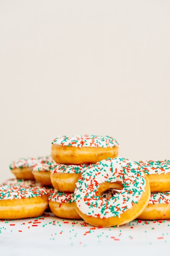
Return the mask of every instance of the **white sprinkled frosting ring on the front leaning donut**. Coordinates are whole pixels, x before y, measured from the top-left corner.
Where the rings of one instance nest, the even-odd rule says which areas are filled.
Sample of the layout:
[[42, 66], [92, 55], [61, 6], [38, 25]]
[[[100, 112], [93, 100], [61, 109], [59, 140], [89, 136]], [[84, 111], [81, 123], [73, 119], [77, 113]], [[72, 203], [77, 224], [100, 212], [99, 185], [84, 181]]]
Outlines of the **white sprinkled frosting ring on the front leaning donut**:
[[[123, 189], [115, 196], [99, 197], [97, 191], [103, 182], [119, 181]], [[145, 189], [144, 173], [138, 165], [128, 159], [106, 159], [82, 173], [75, 188], [75, 200], [79, 210], [87, 216], [108, 218], [120, 217], [138, 202]]]

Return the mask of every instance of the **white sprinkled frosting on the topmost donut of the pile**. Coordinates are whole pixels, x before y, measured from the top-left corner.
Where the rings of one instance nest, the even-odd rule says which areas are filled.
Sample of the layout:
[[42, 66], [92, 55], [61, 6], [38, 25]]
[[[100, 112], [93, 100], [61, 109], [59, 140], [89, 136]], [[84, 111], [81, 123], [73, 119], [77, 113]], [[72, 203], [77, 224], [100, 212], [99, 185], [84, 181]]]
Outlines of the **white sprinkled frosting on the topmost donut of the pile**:
[[119, 144], [113, 137], [96, 135], [75, 135], [71, 137], [60, 136], [53, 140], [52, 144], [73, 147], [115, 147]]

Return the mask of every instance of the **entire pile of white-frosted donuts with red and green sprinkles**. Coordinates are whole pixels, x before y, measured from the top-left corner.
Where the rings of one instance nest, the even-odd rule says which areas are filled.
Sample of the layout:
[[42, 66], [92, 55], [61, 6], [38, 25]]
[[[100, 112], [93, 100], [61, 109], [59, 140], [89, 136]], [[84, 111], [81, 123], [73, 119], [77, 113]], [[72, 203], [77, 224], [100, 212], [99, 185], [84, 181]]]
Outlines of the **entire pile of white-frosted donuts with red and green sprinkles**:
[[93, 226], [170, 218], [170, 160], [118, 157], [109, 136], [59, 136], [51, 155], [10, 164], [15, 178], [0, 185], [0, 219], [55, 216]]

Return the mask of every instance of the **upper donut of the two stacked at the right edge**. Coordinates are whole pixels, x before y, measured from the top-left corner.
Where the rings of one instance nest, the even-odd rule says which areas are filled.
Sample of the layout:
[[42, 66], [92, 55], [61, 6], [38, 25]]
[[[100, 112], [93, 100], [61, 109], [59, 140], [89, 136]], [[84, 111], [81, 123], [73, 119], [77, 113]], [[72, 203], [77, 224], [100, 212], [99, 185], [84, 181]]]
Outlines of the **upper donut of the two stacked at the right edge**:
[[136, 162], [147, 175], [151, 192], [170, 191], [170, 160]]

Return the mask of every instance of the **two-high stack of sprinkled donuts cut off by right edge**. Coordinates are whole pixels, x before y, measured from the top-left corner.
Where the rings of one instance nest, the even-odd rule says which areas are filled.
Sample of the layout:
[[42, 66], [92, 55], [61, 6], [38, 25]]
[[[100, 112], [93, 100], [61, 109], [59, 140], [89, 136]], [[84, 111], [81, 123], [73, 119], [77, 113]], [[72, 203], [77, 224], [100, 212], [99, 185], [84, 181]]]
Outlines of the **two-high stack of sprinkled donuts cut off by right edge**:
[[141, 220], [170, 219], [170, 160], [136, 162], [150, 183], [150, 201]]

